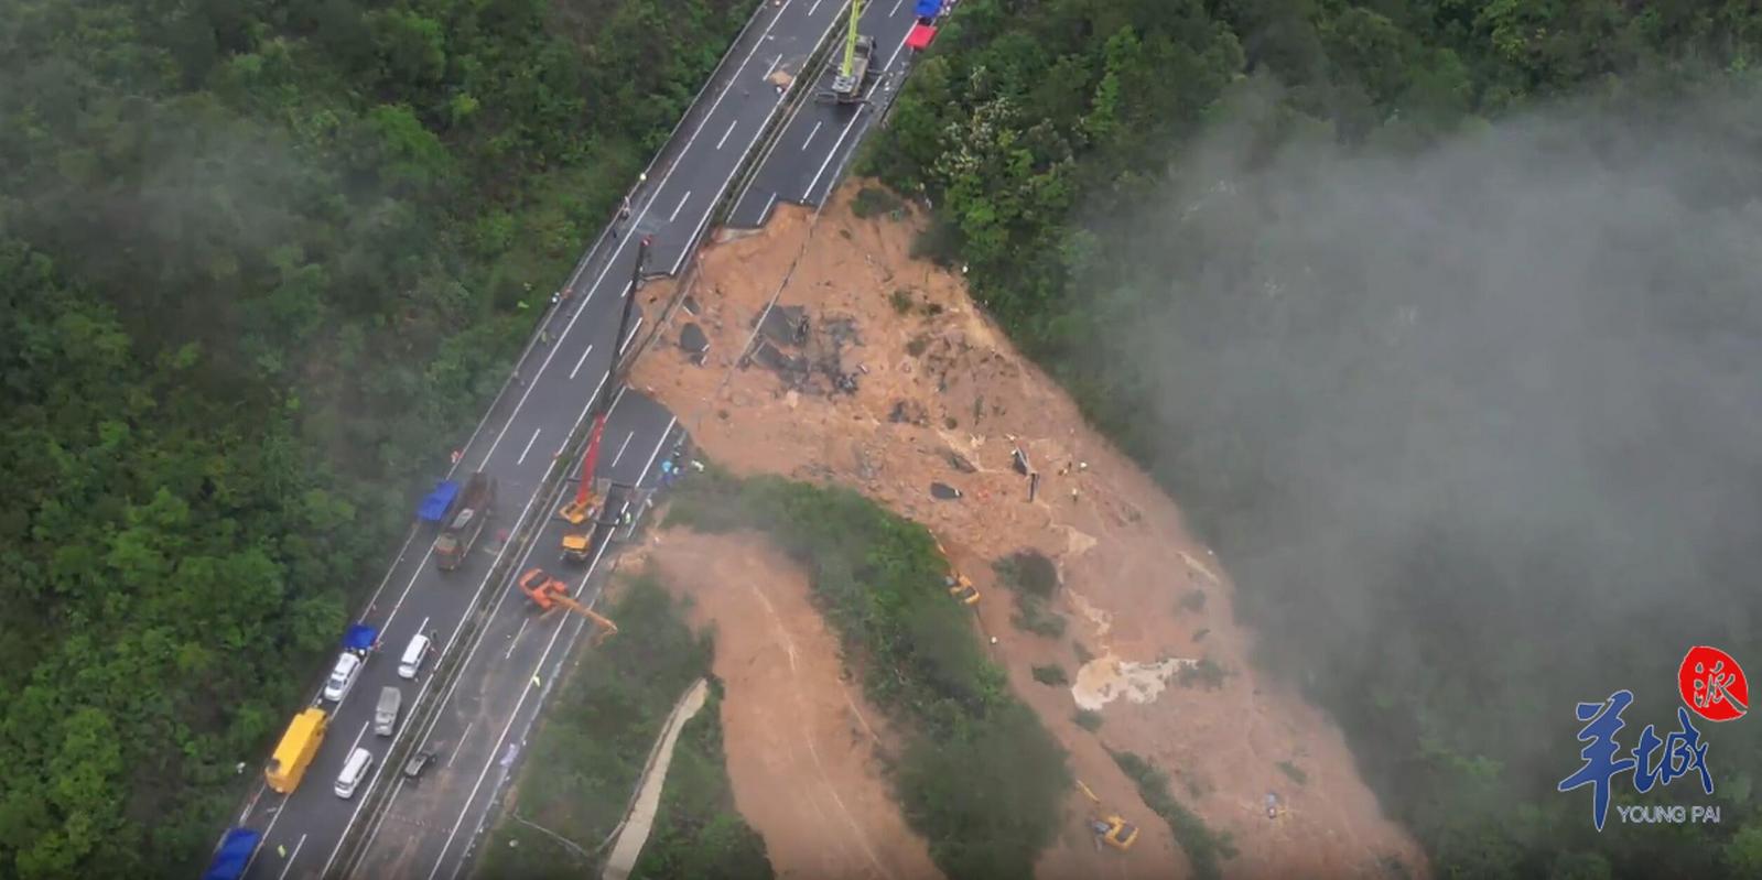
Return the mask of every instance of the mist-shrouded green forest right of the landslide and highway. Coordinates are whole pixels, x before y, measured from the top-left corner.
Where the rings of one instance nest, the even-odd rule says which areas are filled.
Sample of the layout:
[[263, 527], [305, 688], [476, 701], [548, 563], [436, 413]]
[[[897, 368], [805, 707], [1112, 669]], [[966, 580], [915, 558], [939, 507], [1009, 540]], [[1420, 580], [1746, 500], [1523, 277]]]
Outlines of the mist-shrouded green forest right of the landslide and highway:
[[[1762, 53], [1751, 4], [966, 0], [863, 165], [923, 253], [1166, 486], [1267, 664], [1440, 876], [1762, 875], [1591, 829], [1573, 702], [1762, 665]], [[1748, 377], [1748, 378], [1744, 378]]]

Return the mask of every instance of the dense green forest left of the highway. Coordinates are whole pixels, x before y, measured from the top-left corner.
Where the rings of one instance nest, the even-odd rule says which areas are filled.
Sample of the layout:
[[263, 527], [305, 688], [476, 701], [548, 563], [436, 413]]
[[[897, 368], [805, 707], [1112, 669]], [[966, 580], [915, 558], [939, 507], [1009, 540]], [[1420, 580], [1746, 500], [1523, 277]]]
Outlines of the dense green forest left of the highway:
[[199, 862], [751, 0], [0, 0], [0, 876]]

